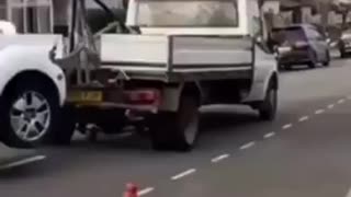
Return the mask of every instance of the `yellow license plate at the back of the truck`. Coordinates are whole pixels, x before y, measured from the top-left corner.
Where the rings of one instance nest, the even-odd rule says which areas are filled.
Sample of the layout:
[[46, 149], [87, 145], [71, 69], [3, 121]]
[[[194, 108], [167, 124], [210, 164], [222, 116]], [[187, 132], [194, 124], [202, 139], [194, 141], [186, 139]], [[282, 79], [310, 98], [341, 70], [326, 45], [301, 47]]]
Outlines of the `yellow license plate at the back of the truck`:
[[102, 99], [100, 91], [73, 91], [68, 94], [70, 102], [102, 102]]

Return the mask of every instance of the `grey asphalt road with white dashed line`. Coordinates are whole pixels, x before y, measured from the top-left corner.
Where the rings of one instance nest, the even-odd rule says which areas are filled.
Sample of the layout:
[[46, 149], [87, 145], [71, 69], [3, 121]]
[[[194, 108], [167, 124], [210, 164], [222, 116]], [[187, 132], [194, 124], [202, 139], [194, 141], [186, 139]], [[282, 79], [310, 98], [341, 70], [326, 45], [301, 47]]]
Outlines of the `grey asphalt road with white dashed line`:
[[350, 79], [351, 59], [283, 72], [274, 123], [245, 107], [204, 108], [200, 144], [186, 154], [155, 152], [138, 136], [46, 148], [46, 161], [2, 173], [0, 194], [115, 197], [134, 182], [150, 197], [348, 197]]

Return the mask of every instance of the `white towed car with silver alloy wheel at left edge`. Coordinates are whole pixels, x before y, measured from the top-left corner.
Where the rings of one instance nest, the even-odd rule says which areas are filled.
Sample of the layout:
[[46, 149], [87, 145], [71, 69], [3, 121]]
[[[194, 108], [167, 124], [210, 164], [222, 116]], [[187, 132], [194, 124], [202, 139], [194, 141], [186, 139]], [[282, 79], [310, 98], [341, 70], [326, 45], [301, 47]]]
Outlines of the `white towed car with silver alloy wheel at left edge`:
[[60, 36], [35, 36], [0, 22], [0, 139], [11, 147], [54, 139], [66, 100], [64, 72], [48, 57]]

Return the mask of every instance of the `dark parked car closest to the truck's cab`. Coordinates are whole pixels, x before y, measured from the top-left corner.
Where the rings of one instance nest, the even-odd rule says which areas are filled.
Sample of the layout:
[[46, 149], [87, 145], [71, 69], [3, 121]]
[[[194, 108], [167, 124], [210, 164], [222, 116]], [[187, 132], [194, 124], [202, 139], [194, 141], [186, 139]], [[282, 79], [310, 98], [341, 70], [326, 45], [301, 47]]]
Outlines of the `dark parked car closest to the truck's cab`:
[[318, 63], [329, 66], [330, 53], [326, 36], [317, 27], [298, 24], [273, 30], [273, 40], [280, 68], [291, 69], [295, 65]]

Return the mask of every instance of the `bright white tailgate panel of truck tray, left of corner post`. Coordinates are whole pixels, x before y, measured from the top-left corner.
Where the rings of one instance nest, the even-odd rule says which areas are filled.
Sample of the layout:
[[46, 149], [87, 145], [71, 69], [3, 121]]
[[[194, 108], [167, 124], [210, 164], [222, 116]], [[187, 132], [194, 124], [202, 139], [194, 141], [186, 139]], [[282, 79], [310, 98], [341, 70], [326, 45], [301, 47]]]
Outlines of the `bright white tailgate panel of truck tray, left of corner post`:
[[165, 71], [167, 51], [166, 36], [105, 34], [101, 37], [101, 59], [104, 66]]

